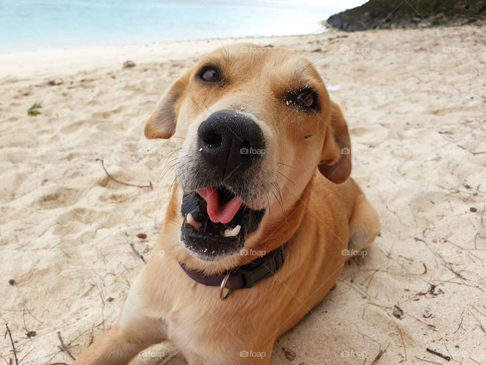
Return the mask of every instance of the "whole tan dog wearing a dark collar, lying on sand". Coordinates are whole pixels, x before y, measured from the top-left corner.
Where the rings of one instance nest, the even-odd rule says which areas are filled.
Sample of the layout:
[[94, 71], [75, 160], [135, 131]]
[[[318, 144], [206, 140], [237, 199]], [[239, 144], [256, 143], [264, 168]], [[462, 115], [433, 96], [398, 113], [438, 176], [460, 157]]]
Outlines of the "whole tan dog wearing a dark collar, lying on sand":
[[114, 327], [75, 365], [170, 340], [190, 365], [269, 364], [275, 340], [379, 233], [340, 107], [301, 55], [236, 44], [177, 80], [145, 125], [175, 138], [154, 254]]

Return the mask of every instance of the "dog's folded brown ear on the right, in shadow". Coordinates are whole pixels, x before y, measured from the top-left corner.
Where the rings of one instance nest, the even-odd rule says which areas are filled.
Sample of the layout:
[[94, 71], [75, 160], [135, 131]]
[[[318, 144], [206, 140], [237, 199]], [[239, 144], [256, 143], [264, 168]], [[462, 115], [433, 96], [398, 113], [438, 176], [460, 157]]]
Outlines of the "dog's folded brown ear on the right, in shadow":
[[351, 174], [351, 141], [343, 112], [332, 101], [331, 121], [326, 128], [319, 171], [335, 184], [341, 184]]

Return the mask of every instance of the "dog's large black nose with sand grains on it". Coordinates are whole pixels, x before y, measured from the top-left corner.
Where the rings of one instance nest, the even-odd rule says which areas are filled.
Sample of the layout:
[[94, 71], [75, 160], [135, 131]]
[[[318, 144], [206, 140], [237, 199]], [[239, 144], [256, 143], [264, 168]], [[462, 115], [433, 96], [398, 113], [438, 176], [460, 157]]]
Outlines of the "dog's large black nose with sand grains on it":
[[261, 128], [252, 118], [238, 113], [212, 114], [199, 125], [197, 135], [200, 153], [223, 177], [248, 169], [265, 154]]

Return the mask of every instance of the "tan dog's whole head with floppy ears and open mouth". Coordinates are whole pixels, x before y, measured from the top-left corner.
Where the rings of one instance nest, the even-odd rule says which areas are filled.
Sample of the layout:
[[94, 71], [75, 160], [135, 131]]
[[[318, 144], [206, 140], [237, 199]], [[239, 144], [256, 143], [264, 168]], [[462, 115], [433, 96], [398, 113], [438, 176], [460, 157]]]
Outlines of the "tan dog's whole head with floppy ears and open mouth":
[[[312, 64], [256, 45], [216, 50], [177, 80], [145, 126], [177, 136], [181, 241], [220, 260], [285, 222], [316, 168], [340, 184], [351, 171], [346, 122]], [[283, 243], [283, 242], [282, 242]]]

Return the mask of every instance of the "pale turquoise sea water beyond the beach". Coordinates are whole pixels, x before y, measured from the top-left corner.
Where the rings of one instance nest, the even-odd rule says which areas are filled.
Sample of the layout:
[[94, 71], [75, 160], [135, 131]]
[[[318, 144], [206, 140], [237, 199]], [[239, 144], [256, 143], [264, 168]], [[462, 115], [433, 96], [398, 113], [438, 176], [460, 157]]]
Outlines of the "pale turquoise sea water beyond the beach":
[[307, 34], [342, 10], [290, 0], [0, 0], [0, 52]]

